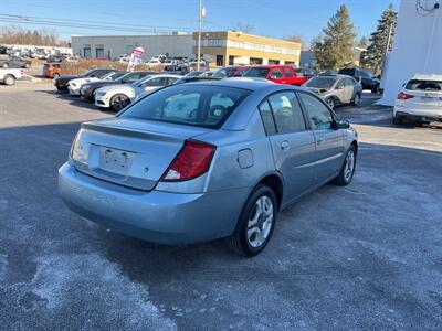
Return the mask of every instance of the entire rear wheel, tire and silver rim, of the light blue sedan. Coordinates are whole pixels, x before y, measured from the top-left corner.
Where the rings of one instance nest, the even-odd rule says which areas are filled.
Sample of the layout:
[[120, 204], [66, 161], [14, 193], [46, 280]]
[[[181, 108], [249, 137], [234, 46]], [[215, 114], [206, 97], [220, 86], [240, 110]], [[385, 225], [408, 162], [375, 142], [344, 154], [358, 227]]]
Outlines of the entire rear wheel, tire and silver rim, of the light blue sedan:
[[259, 185], [246, 201], [227, 245], [241, 255], [255, 256], [267, 245], [276, 221], [276, 196], [267, 185]]

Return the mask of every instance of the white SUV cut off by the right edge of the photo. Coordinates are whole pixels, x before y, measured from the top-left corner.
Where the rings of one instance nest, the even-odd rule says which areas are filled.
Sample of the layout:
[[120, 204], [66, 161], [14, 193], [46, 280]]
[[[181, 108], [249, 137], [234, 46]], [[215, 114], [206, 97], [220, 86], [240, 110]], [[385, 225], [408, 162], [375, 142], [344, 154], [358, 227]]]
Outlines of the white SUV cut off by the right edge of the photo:
[[442, 75], [414, 75], [398, 94], [393, 124], [442, 121]]

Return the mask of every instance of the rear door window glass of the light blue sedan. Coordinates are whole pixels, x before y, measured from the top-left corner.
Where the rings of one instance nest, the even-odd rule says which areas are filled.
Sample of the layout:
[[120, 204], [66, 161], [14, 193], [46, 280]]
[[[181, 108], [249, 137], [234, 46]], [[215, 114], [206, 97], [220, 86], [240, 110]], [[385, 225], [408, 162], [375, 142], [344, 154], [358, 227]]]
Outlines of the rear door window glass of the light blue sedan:
[[305, 130], [303, 110], [294, 92], [281, 92], [269, 97], [276, 129], [281, 134]]

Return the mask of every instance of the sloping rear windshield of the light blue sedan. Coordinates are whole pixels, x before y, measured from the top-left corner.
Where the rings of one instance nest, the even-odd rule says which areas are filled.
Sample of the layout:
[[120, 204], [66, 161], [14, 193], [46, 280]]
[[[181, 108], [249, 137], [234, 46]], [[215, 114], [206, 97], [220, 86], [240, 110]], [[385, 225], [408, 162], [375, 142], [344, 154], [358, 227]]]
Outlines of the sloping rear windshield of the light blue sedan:
[[251, 90], [213, 85], [175, 85], [134, 104], [120, 117], [218, 129]]

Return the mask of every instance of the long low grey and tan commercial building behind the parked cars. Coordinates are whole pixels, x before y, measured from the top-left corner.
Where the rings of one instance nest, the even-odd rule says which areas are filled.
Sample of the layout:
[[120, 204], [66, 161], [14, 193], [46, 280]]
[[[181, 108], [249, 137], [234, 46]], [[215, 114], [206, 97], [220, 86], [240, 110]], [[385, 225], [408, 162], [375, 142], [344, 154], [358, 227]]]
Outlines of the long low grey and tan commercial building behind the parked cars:
[[[72, 51], [83, 57], [117, 58], [143, 47], [143, 58], [158, 54], [170, 57], [197, 57], [198, 33], [173, 32], [167, 35], [72, 36]], [[301, 43], [259, 36], [240, 31], [201, 33], [201, 56], [210, 67], [248, 64], [299, 64]]]

